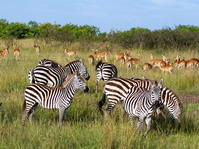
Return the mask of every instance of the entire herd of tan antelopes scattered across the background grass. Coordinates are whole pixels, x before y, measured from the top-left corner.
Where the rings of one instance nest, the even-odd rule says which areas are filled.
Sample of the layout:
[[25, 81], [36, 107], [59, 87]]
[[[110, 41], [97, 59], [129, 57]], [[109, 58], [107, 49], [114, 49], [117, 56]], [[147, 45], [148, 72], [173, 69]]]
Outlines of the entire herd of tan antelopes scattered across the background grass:
[[[37, 55], [40, 53], [40, 46], [38, 44], [33, 44], [33, 47], [35, 48], [35, 52]], [[14, 58], [15, 60], [19, 60], [20, 56], [20, 49], [17, 48], [16, 45], [13, 46], [14, 50]], [[174, 68], [177, 69], [184, 69], [184, 68], [197, 68], [199, 67], [199, 59], [198, 58], [191, 58], [189, 60], [185, 60], [184, 57], [177, 55], [176, 58], [173, 60], [173, 63], [171, 63], [171, 59], [166, 57], [165, 55], [162, 55], [162, 58], [156, 59], [154, 58], [153, 54], [151, 54], [148, 58], [143, 57], [143, 55], [139, 54], [137, 57], [131, 57], [130, 50], [127, 50], [126, 52], [121, 53], [115, 53], [112, 54], [107, 51], [98, 51], [98, 49], [91, 49], [93, 52], [93, 55], [88, 55], [88, 63], [89, 65], [94, 65], [95, 60], [104, 60], [108, 62], [111, 58], [114, 57], [114, 64], [121, 64], [124, 65], [127, 70], [129, 70], [131, 67], [135, 66], [137, 68], [138, 66], [141, 66], [141, 68], [146, 70], [151, 70], [154, 67], [159, 68], [162, 72], [169, 72], [171, 73]], [[0, 50], [0, 58], [5, 58], [6, 55], [9, 54], [9, 46], [5, 49]], [[77, 56], [76, 50], [64, 50], [64, 54], [69, 57], [75, 57]], [[148, 59], [148, 60], [147, 60]], [[145, 60], [145, 61], [144, 61]]]

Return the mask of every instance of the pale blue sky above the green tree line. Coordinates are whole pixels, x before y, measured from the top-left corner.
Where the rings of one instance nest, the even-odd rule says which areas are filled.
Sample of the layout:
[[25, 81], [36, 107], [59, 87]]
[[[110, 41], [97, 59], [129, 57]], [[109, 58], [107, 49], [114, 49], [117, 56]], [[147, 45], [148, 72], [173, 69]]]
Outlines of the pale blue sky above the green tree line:
[[199, 0], [0, 0], [0, 19], [91, 25], [100, 32], [199, 26]]

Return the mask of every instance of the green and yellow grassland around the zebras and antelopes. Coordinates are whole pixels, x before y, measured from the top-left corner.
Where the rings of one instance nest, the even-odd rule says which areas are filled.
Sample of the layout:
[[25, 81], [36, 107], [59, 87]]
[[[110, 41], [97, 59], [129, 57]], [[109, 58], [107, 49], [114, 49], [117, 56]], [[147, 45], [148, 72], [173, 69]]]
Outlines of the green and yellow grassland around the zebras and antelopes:
[[[183, 98], [189, 95], [184, 104], [184, 112], [179, 125], [174, 125], [168, 119], [159, 117], [154, 119], [152, 130], [143, 137], [136, 131], [135, 126], [130, 126], [128, 117], [123, 113], [122, 105], [118, 104], [110, 115], [109, 124], [104, 124], [103, 116], [96, 109], [96, 102], [102, 95], [100, 83], [99, 94], [95, 95], [95, 71], [89, 66], [87, 56], [92, 54], [90, 50], [78, 51], [76, 47], [76, 59], [83, 59], [88, 66], [91, 75], [87, 82], [90, 91], [84, 94], [78, 91], [73, 104], [66, 112], [62, 128], [57, 125], [57, 110], [46, 110], [38, 107], [33, 116], [33, 124], [26, 123], [21, 126], [22, 103], [24, 90], [29, 84], [28, 71], [37, 65], [43, 58], [52, 59], [62, 65], [74, 59], [67, 59], [63, 54], [63, 47], [42, 46], [40, 56], [37, 56], [32, 48], [32, 41], [23, 40], [19, 43], [21, 49], [20, 60], [15, 61], [13, 52], [1, 59], [0, 65], [0, 148], [85, 148], [85, 149], [109, 149], [109, 148], [164, 148], [164, 149], [196, 149], [199, 148], [199, 105], [191, 102], [192, 95], [199, 94], [199, 69], [174, 70], [172, 74], [162, 73], [159, 69], [143, 72], [140, 67], [128, 70], [117, 64], [119, 76], [141, 77], [144, 75], [150, 79], [164, 79], [164, 84], [171, 88], [177, 95]], [[75, 46], [74, 46], [75, 47]], [[102, 46], [103, 47], [103, 46]], [[72, 47], [71, 47], [72, 48]], [[86, 49], [86, 48], [85, 48]], [[12, 49], [11, 49], [12, 50]], [[123, 49], [115, 48], [110, 52], [110, 61], [113, 62], [113, 54]], [[153, 53], [161, 58], [165, 54], [171, 60], [177, 54], [186, 59], [199, 57], [198, 51], [180, 52], [171, 50], [143, 51], [133, 50], [132, 56], [141, 53], [143, 62], [148, 61], [148, 56]], [[199, 99], [198, 99], [199, 100]], [[183, 101], [183, 99], [182, 99]], [[198, 103], [198, 102], [197, 102]]]

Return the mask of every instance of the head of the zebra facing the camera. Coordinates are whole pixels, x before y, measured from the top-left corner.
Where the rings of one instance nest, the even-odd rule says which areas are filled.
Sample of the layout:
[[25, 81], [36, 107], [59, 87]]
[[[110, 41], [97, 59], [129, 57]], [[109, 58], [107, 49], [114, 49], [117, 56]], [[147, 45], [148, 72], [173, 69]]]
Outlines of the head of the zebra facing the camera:
[[161, 108], [163, 109], [164, 105], [162, 103], [161, 100], [161, 88], [163, 87], [163, 79], [160, 80], [160, 82], [157, 84], [156, 82], [154, 82], [151, 85], [151, 99], [153, 102], [153, 108], [157, 109], [157, 108]]

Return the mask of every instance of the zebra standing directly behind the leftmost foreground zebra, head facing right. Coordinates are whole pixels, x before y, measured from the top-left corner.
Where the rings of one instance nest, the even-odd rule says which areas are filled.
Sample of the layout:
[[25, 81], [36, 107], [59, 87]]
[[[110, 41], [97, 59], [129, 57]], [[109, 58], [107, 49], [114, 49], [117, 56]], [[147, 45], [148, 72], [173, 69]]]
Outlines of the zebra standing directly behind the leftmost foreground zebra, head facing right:
[[29, 80], [30, 83], [44, 84], [50, 87], [61, 86], [64, 80], [76, 71], [89, 80], [90, 75], [81, 59], [70, 62], [64, 67], [36, 66], [32, 69]]

